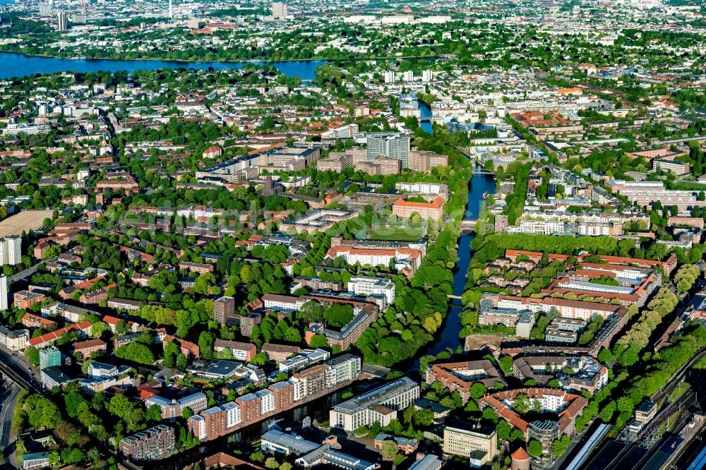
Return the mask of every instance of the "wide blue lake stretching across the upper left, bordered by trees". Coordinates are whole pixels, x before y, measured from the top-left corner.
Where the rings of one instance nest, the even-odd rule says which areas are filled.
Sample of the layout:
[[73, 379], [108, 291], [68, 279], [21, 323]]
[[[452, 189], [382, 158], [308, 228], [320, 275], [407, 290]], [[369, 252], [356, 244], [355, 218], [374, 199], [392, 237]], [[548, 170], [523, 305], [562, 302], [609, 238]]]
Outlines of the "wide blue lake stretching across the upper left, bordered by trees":
[[[2, 0], [0, 0], [2, 1]], [[316, 78], [314, 70], [323, 61], [289, 61], [289, 62], [178, 62], [178, 61], [130, 61], [116, 59], [57, 59], [55, 57], [25, 56], [12, 52], [0, 52], [0, 78], [28, 76], [32, 73], [57, 72], [134, 72], [136, 70], [157, 70], [158, 68], [193, 68], [196, 70], [225, 70], [228, 68], [243, 68], [246, 65], [272, 65], [280, 73], [302, 80]]]

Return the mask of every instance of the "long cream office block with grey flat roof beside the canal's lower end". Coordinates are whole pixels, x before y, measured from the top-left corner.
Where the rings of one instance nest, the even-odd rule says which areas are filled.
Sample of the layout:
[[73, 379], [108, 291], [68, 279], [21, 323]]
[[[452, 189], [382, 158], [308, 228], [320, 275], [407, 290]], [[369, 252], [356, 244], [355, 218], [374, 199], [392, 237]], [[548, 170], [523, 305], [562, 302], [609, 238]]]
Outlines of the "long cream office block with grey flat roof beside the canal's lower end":
[[402, 377], [335, 405], [330, 411], [330, 423], [333, 428], [345, 430], [347, 433], [375, 422], [387, 426], [397, 418], [397, 410], [407, 408], [418, 398], [417, 382]]

